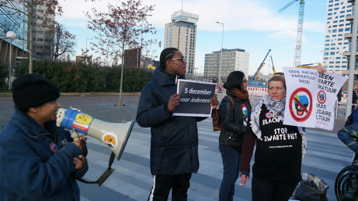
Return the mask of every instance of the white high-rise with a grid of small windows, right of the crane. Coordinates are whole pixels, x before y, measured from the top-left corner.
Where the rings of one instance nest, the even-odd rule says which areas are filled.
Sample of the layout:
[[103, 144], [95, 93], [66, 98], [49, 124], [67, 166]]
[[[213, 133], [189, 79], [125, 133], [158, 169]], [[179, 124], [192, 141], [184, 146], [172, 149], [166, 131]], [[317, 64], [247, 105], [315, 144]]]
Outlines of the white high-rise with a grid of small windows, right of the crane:
[[349, 41], [345, 34], [351, 31], [350, 20], [352, 5], [347, 0], [327, 0], [327, 20], [324, 38], [322, 65], [327, 71], [343, 75], [347, 70], [347, 57]]

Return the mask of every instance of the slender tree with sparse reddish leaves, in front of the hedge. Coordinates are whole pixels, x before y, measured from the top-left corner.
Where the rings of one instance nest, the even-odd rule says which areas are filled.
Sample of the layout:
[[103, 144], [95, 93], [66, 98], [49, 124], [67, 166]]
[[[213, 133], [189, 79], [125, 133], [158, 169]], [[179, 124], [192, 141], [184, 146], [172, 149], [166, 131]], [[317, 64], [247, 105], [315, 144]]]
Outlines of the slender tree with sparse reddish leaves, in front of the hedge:
[[[148, 56], [150, 45], [157, 41], [140, 41], [140, 36], [141, 33], [156, 34], [155, 28], [146, 19], [147, 13], [153, 11], [155, 5], [142, 7], [142, 0], [126, 0], [123, 2], [117, 0], [116, 2], [118, 5], [108, 4], [108, 13], [100, 13], [97, 12], [96, 8], [93, 8], [93, 16], [86, 12], [86, 17], [89, 19], [87, 28], [98, 34], [98, 37], [95, 38], [99, 42], [91, 43], [96, 53], [112, 58], [114, 64], [118, 64], [119, 58], [122, 60], [119, 97], [119, 106], [122, 106], [124, 48], [146, 47], [146, 50], [142, 51], [142, 56]], [[144, 22], [143, 32], [142, 20]]]

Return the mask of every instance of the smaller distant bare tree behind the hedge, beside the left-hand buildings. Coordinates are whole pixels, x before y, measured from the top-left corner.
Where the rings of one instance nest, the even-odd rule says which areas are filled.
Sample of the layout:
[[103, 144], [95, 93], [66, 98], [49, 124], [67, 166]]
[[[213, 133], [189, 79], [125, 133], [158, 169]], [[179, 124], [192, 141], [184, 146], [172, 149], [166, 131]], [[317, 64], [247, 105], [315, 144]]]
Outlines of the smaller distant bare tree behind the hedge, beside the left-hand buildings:
[[76, 35], [68, 32], [63, 24], [55, 21], [45, 35], [43, 49], [54, 57], [54, 61], [65, 53], [74, 54], [77, 45]]

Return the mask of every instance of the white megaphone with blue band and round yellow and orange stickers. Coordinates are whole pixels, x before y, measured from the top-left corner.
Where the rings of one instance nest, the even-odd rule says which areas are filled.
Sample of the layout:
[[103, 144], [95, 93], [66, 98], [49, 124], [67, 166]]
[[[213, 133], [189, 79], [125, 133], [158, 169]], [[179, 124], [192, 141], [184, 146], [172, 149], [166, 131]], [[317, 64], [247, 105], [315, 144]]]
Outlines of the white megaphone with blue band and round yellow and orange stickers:
[[110, 148], [118, 160], [123, 154], [135, 123], [135, 120], [122, 121], [122, 123], [101, 121], [72, 107], [69, 110], [58, 109], [56, 116], [57, 127], [71, 131], [72, 138], [78, 139], [85, 135], [94, 137]]

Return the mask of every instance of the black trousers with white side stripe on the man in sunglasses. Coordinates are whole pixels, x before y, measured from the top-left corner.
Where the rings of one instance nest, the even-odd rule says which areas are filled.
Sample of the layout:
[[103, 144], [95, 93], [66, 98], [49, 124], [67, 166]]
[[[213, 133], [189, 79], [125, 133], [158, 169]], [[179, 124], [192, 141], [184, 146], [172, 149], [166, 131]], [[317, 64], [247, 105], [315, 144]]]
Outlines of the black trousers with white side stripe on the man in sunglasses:
[[168, 201], [171, 191], [171, 200], [186, 201], [190, 187], [191, 173], [175, 175], [153, 175], [153, 187], [150, 190], [148, 201]]

